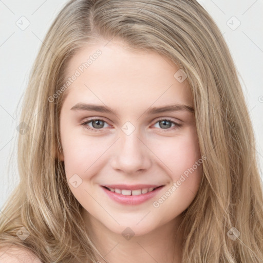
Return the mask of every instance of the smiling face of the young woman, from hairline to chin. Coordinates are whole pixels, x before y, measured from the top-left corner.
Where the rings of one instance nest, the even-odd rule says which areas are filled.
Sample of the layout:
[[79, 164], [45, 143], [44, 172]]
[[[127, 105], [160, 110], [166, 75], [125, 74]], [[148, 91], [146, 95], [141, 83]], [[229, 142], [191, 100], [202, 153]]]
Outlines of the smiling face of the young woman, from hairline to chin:
[[176, 222], [193, 201], [202, 159], [191, 91], [178, 70], [158, 53], [117, 42], [88, 45], [69, 61], [59, 158], [93, 224], [142, 235]]

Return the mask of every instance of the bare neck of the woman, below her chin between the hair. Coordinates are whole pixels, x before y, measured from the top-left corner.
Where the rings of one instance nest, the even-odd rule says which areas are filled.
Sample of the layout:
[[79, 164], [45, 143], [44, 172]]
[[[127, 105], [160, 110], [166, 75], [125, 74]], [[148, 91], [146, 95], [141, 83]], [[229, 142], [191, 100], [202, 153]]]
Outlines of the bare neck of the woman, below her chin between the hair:
[[114, 233], [100, 221], [83, 212], [86, 230], [95, 247], [98, 262], [101, 263], [181, 263], [182, 233], [178, 231], [181, 217], [165, 223], [158, 229], [132, 238]]

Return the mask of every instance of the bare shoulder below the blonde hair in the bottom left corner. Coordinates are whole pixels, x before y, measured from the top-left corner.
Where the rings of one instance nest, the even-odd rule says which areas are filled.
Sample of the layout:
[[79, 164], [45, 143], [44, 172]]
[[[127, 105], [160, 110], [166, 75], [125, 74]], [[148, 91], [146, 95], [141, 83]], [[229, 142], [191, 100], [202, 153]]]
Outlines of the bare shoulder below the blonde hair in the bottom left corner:
[[0, 248], [0, 262], [5, 263], [41, 263], [29, 249], [17, 246]]

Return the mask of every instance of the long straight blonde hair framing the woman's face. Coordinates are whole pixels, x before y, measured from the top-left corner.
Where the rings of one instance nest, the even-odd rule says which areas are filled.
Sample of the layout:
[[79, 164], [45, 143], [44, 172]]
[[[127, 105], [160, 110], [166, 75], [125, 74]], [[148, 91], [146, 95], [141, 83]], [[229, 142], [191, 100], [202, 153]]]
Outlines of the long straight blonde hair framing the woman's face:
[[[98, 40], [154, 50], [187, 75], [203, 179], [183, 212], [182, 263], [263, 261], [263, 196], [248, 108], [221, 32], [195, 0], [71, 0], [49, 29], [25, 93], [18, 138], [20, 183], [0, 216], [1, 246], [32, 250], [43, 262], [96, 262], [81, 205], [58, 159], [67, 61]], [[50, 102], [50, 96], [54, 98]], [[25, 228], [22, 240], [17, 231]], [[235, 238], [231, 238], [231, 237]]]

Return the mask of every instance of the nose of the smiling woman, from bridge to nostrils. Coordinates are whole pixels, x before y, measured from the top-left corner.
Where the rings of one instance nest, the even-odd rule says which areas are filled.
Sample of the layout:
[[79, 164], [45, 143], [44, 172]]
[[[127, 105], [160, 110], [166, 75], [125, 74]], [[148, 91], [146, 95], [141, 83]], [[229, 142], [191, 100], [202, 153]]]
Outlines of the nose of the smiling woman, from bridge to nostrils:
[[126, 135], [122, 133], [116, 142], [111, 167], [127, 175], [146, 171], [151, 166], [150, 150], [145, 141], [138, 137], [136, 130]]

